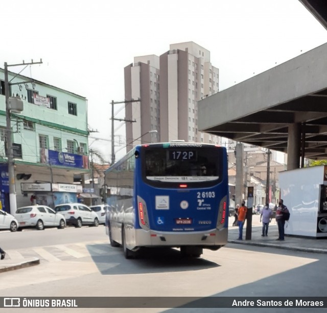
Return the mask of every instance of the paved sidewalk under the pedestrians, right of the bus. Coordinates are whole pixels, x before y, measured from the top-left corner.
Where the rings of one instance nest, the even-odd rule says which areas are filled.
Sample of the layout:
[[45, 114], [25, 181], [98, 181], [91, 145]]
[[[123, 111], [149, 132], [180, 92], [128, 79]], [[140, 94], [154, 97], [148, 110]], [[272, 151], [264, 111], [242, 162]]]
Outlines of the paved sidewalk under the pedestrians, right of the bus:
[[252, 216], [251, 240], [245, 240], [246, 223], [243, 228], [243, 240], [237, 240], [239, 237], [239, 229], [237, 226], [231, 226], [232, 221], [233, 218], [229, 218], [228, 243], [272, 247], [305, 252], [327, 253], [327, 238], [316, 239], [285, 235], [285, 241], [276, 241], [278, 238], [278, 228], [274, 220], [269, 224], [268, 237], [262, 237], [262, 224], [260, 223], [260, 215]]

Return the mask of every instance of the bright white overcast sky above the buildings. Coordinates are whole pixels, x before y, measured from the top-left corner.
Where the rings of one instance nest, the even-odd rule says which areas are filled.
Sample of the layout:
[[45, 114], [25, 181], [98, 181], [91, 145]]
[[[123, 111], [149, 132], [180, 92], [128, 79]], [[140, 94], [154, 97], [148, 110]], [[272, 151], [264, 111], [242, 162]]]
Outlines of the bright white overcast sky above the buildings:
[[[110, 103], [124, 100], [124, 67], [134, 57], [194, 41], [211, 52], [221, 91], [327, 42], [327, 31], [298, 0], [15, 0], [0, 7], [0, 67], [42, 58], [21, 74], [88, 99], [88, 125], [97, 131], [89, 147], [107, 161]], [[124, 122], [114, 128], [119, 150]]]

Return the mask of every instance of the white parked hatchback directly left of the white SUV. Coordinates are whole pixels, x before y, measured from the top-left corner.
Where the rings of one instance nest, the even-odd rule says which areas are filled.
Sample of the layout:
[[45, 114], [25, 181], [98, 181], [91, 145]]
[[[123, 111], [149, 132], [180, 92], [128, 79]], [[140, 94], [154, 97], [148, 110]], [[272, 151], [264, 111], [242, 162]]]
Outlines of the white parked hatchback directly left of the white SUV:
[[15, 218], [19, 223], [19, 228], [36, 227], [42, 230], [44, 227], [66, 226], [65, 217], [56, 213], [51, 207], [46, 205], [29, 205], [17, 208]]

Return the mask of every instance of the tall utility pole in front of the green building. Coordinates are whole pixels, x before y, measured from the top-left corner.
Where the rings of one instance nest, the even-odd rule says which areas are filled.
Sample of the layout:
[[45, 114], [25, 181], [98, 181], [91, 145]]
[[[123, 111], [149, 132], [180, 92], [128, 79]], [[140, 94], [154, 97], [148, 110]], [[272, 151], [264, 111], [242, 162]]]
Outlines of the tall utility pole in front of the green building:
[[[5, 62], [5, 94], [6, 94], [5, 98], [6, 98], [6, 131], [7, 131], [7, 154], [8, 154], [7, 157], [8, 157], [8, 178], [9, 178], [9, 203], [10, 203], [10, 214], [12, 214], [12, 215], [15, 215], [15, 213], [16, 213], [17, 200], [16, 200], [16, 187], [15, 187], [14, 156], [13, 156], [13, 150], [12, 150], [12, 131], [11, 131], [11, 122], [10, 122], [10, 110], [12, 108], [10, 106], [10, 99], [9, 99], [9, 94], [10, 94], [9, 85], [16, 85], [16, 84], [10, 84], [10, 82], [9, 82], [8, 67], [25, 65], [25, 68], [26, 68], [28, 65], [41, 64], [41, 63], [42, 63], [42, 59], [40, 60], [40, 62], [33, 62], [33, 60], [32, 60], [31, 63], [25, 63], [23, 61], [23, 63], [21, 63], [21, 64], [12, 64], [12, 65], [8, 65], [7, 62]], [[24, 70], [24, 69], [22, 69], [22, 70]], [[18, 74], [16, 74], [16, 75], [18, 75]], [[16, 75], [13, 77], [13, 79], [16, 77]], [[31, 81], [29, 81], [27, 83], [30, 83], [30, 82]], [[25, 82], [19, 82], [19, 84], [23, 84], [23, 83], [25, 83]], [[11, 98], [11, 99], [13, 99], [13, 98]]]

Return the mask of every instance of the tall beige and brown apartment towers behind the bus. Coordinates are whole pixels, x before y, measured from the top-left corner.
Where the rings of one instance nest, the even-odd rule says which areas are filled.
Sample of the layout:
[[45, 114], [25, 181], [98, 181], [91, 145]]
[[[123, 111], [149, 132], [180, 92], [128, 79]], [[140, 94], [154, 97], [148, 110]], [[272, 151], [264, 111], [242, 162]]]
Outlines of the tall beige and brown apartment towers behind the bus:
[[198, 100], [218, 90], [219, 69], [194, 42], [171, 44], [160, 57], [135, 57], [125, 67], [125, 99], [141, 101], [126, 104], [126, 119], [136, 121], [126, 123], [127, 150], [131, 143], [177, 139], [221, 144], [221, 138], [199, 132], [197, 123]]

